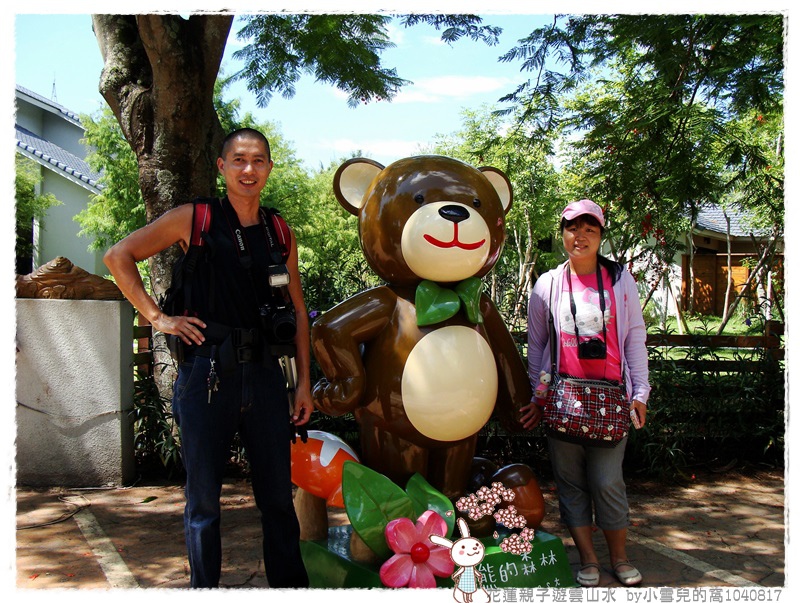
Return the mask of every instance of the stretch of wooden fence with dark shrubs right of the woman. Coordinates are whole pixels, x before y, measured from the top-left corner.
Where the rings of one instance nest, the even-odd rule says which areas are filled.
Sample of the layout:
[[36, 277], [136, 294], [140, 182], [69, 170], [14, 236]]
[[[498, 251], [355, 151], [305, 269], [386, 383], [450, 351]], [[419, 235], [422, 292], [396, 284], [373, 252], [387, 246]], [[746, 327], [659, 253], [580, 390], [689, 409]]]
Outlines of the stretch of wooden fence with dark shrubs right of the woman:
[[783, 461], [782, 327], [764, 335], [647, 338], [650, 403], [631, 457], [651, 472]]

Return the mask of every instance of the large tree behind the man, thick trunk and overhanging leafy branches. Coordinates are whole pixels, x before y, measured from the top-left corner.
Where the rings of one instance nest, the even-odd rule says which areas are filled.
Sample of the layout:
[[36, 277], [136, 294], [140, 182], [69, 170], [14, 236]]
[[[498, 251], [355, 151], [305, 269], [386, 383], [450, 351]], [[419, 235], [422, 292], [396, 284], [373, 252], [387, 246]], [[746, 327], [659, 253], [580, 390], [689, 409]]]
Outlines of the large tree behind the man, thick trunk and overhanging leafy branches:
[[[405, 83], [380, 66], [389, 17], [381, 15], [250, 15], [240, 51], [246, 79], [261, 105], [274, 92], [291, 96], [303, 73], [368, 102], [391, 98]], [[469, 15], [414, 15], [452, 41], [466, 35], [496, 42], [497, 30]], [[232, 15], [93, 15], [103, 55], [100, 92], [119, 122], [139, 166], [146, 219], [215, 188], [215, 161], [224, 130], [214, 87]], [[157, 294], [169, 286], [177, 249], [151, 261]]]

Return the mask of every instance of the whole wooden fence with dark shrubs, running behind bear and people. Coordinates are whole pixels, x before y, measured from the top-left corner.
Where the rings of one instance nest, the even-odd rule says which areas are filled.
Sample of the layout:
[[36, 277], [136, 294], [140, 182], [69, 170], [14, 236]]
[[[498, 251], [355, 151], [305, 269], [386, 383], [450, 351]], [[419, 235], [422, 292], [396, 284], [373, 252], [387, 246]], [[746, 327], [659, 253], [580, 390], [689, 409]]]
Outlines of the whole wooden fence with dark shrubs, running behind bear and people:
[[[646, 433], [634, 433], [630, 456], [638, 469], [659, 473], [692, 462], [733, 455], [741, 459], [783, 458], [784, 358], [783, 329], [772, 325], [759, 336], [649, 334], [651, 411]], [[152, 387], [153, 353], [150, 325], [134, 327], [137, 341], [133, 363], [137, 391]], [[524, 353], [526, 334], [514, 333]], [[312, 372], [316, 372], [312, 367]], [[143, 397], [142, 401], [146, 401]], [[141, 401], [140, 401], [141, 402]], [[137, 441], [150, 450], [153, 442], [174, 441], [172, 426], [161, 414], [166, 406], [141, 416]], [[161, 414], [159, 414], [161, 413]], [[157, 416], [155, 416], [157, 415]], [[329, 417], [315, 413], [313, 429], [335, 433], [358, 449], [358, 426], [347, 414]], [[542, 435], [534, 432], [506, 432], [492, 420], [479, 433], [479, 456], [498, 463], [526, 462], [540, 474], [546, 473]], [[516, 437], [512, 437], [516, 436]], [[177, 447], [156, 444], [177, 463]], [[767, 454], [769, 453], [769, 454]], [[162, 461], [163, 462], [163, 461]]]

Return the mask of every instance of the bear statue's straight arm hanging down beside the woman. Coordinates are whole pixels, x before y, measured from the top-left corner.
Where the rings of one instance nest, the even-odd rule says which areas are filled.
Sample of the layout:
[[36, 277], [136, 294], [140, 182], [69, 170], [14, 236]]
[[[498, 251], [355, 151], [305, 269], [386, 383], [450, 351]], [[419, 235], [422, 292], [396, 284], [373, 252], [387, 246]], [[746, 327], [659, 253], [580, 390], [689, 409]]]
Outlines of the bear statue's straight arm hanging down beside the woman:
[[481, 312], [486, 336], [497, 363], [497, 404], [494, 414], [506, 430], [521, 431], [520, 408], [531, 401], [528, 371], [503, 317], [487, 295], [481, 296]]

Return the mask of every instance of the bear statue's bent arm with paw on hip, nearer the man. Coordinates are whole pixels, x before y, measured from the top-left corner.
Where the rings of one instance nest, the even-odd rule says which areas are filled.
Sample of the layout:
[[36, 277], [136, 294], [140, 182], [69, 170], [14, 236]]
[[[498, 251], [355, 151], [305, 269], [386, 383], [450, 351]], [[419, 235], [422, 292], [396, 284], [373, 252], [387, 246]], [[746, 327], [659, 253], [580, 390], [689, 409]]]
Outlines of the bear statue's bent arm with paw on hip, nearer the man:
[[313, 392], [320, 411], [339, 416], [358, 407], [366, 382], [359, 346], [386, 327], [396, 305], [394, 292], [375, 287], [334, 306], [314, 323], [311, 346], [325, 374]]

